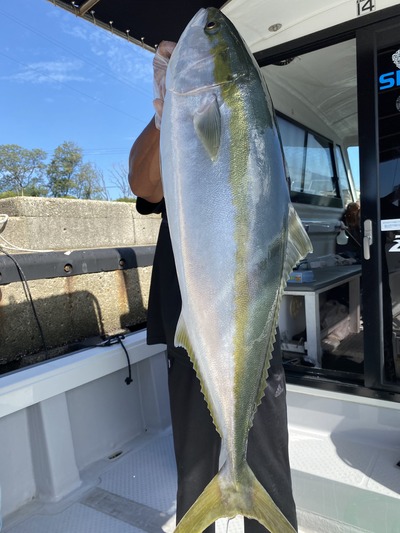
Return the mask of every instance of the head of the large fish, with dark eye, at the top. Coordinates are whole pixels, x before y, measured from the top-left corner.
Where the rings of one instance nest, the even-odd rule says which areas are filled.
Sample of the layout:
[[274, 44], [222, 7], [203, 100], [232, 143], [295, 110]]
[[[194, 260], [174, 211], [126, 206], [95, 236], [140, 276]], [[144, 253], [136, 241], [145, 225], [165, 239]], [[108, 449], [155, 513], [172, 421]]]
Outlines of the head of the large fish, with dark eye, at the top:
[[167, 91], [196, 93], [236, 83], [249, 73], [246, 45], [218, 9], [200, 9], [189, 22], [168, 65]]

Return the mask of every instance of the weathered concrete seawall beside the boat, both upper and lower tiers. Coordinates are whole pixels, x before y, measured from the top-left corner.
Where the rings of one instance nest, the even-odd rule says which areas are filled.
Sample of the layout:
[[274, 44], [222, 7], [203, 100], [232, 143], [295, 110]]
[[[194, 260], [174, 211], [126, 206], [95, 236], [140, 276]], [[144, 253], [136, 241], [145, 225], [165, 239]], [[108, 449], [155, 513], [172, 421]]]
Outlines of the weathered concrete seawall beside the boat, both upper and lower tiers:
[[[0, 200], [2, 214], [8, 220], [0, 246], [17, 261], [28, 250], [64, 251], [70, 257], [72, 250], [154, 245], [160, 224], [158, 215], [142, 216], [135, 204], [122, 202], [16, 197]], [[28, 286], [49, 348], [45, 354], [26, 287], [21, 281], [6, 283], [4, 276], [2, 281], [6, 262], [10, 268], [0, 252], [0, 373], [10, 363], [31, 364], [146, 320], [151, 265], [104, 271], [99, 261], [98, 272], [60, 277], [43, 268], [43, 279], [28, 279]]]

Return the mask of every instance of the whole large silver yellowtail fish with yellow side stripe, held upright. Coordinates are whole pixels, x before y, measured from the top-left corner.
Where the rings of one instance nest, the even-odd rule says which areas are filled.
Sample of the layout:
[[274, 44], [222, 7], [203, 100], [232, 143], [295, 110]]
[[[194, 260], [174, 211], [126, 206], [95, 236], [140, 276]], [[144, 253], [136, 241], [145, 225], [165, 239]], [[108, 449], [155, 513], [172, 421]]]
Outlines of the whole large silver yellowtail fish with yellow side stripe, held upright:
[[197, 13], [171, 57], [161, 164], [182, 293], [175, 343], [193, 362], [226, 454], [176, 532], [238, 514], [293, 531], [246, 452], [282, 292], [311, 245], [290, 203], [263, 77], [214, 8]]

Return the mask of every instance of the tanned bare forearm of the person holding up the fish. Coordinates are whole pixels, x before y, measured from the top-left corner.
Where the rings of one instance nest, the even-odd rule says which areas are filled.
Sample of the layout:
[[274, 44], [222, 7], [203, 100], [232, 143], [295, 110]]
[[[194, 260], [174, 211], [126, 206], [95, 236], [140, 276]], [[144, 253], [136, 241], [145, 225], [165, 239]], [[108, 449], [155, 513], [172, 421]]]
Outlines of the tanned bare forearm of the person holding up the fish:
[[163, 198], [160, 172], [160, 132], [154, 118], [134, 142], [129, 154], [129, 185], [136, 196], [152, 203]]

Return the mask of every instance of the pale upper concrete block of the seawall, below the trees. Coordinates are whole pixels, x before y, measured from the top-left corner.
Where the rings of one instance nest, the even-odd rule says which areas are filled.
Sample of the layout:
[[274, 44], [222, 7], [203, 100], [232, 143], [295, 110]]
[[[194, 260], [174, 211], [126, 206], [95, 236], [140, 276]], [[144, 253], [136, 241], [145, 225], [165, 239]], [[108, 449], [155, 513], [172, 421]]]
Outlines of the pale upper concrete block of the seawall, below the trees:
[[9, 220], [1, 235], [34, 250], [153, 244], [160, 221], [140, 215], [134, 203], [60, 198], [6, 198], [0, 200], [3, 213]]

